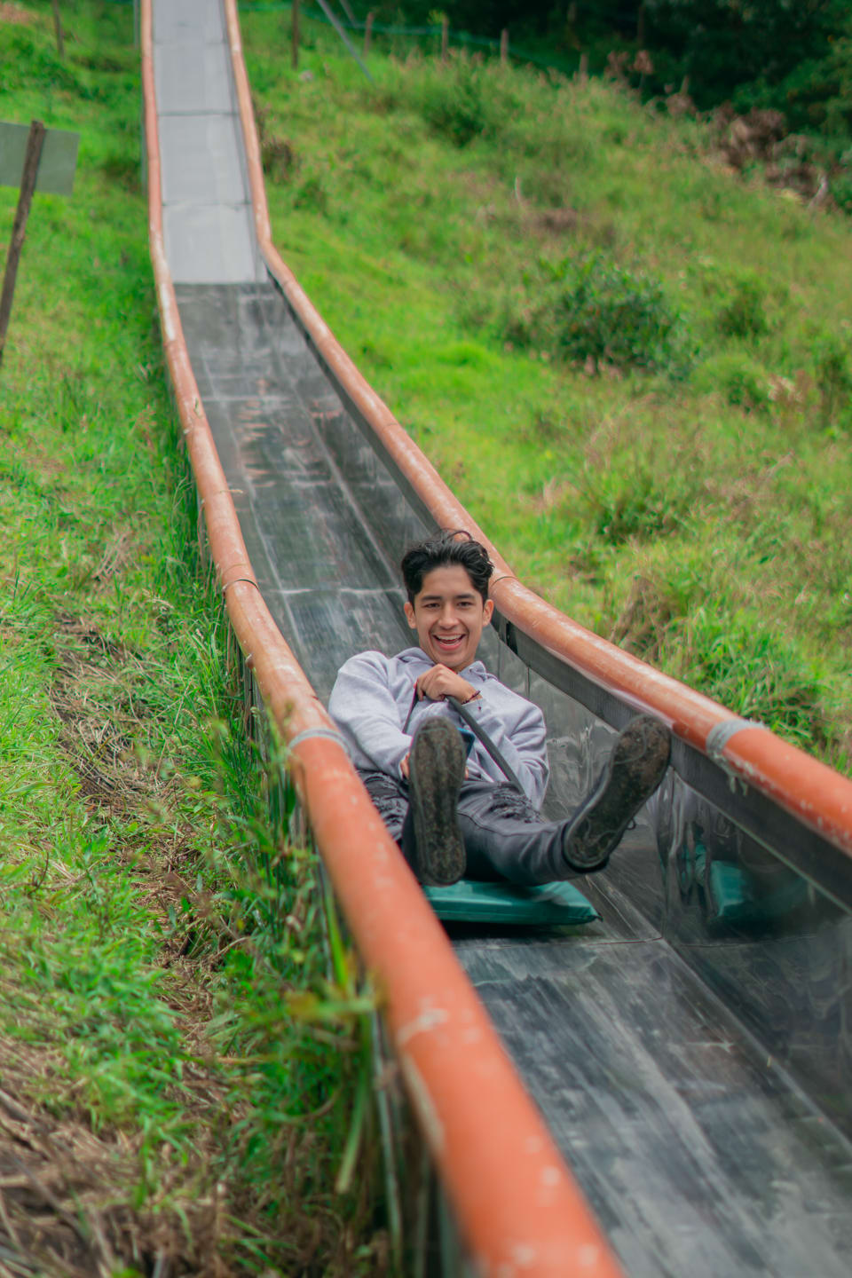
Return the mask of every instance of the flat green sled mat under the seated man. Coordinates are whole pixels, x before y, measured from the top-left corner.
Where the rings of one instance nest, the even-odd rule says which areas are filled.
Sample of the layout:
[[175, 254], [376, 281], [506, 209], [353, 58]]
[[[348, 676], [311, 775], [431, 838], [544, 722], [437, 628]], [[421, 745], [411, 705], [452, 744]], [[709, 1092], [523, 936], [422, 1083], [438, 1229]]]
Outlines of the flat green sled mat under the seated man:
[[459, 879], [450, 887], [424, 887], [427, 901], [447, 923], [503, 923], [510, 927], [571, 927], [594, 923], [600, 915], [571, 883], [474, 883]]

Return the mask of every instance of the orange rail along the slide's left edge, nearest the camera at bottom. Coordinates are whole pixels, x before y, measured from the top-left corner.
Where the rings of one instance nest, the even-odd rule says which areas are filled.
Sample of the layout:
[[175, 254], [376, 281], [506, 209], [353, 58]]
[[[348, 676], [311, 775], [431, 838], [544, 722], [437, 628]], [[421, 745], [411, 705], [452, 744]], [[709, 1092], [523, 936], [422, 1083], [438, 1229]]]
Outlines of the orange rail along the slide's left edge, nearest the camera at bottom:
[[[232, 6], [229, 22], [241, 66]], [[261, 597], [193, 376], [165, 254], [151, 0], [142, 0], [141, 37], [151, 258], [211, 553], [245, 661], [284, 739], [294, 741], [294, 781], [360, 955], [382, 990], [411, 1105], [476, 1272], [618, 1278], [621, 1269], [585, 1199], [342, 745], [330, 739], [333, 725]], [[247, 93], [244, 70], [241, 83]], [[314, 731], [326, 735], [312, 736]]]

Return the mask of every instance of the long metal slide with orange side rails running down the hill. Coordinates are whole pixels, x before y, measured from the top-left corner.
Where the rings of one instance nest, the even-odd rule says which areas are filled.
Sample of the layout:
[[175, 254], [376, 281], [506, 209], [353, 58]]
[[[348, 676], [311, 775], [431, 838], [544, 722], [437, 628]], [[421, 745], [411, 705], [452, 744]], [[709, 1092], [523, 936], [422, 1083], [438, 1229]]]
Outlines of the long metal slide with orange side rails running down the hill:
[[545, 711], [548, 810], [636, 708], [676, 746], [646, 823], [582, 884], [599, 923], [450, 947], [319, 698], [351, 652], [405, 645], [400, 547], [482, 530], [275, 250], [234, 0], [143, 17], [152, 258], [211, 551], [470, 1254], [485, 1273], [617, 1273], [614, 1249], [631, 1274], [839, 1278], [852, 786], [582, 630], [494, 548], [487, 661]]

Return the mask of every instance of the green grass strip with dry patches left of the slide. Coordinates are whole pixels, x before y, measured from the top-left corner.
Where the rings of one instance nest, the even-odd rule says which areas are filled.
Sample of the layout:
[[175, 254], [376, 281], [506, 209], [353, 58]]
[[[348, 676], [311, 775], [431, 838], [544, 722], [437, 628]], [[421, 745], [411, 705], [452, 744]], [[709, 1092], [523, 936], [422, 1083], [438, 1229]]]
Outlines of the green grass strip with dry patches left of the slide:
[[364, 1001], [327, 978], [314, 856], [270, 819], [198, 560], [132, 9], [65, 13], [59, 63], [50, 5], [20, 8], [3, 118], [80, 152], [70, 199], [36, 196], [0, 371], [0, 1089], [32, 1136], [0, 1154], [45, 1186], [4, 1200], [50, 1273], [381, 1272], [369, 1150], [335, 1189]]

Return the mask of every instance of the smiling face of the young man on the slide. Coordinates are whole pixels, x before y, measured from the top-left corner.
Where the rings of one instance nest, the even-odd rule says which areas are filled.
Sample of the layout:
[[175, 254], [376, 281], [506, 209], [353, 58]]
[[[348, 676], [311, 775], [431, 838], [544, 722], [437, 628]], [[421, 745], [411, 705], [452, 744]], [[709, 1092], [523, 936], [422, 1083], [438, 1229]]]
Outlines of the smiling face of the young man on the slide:
[[414, 603], [405, 604], [409, 625], [416, 630], [424, 653], [457, 671], [465, 670], [476, 656], [483, 626], [493, 611], [493, 602], [483, 603], [460, 564], [432, 569], [423, 578]]

